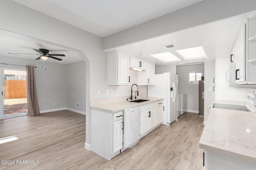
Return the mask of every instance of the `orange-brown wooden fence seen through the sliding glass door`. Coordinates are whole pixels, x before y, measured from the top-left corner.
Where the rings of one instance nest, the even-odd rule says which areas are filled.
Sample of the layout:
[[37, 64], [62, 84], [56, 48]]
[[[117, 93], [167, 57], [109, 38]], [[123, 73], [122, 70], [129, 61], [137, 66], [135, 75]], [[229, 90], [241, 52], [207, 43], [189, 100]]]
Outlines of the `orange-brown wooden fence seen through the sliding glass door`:
[[18, 99], [26, 97], [26, 80], [4, 80], [4, 99]]

